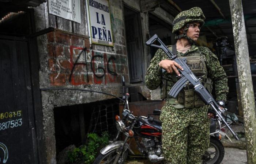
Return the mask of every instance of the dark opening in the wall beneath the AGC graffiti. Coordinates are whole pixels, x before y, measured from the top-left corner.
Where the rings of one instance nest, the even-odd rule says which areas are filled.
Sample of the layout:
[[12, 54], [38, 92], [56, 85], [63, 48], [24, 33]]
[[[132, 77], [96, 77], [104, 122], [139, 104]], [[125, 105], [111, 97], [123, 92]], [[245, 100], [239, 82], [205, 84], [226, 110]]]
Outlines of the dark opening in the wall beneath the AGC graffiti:
[[107, 131], [110, 138], [116, 134], [115, 116], [119, 115], [118, 99], [54, 108], [56, 153], [69, 145], [85, 144], [88, 133], [101, 135]]

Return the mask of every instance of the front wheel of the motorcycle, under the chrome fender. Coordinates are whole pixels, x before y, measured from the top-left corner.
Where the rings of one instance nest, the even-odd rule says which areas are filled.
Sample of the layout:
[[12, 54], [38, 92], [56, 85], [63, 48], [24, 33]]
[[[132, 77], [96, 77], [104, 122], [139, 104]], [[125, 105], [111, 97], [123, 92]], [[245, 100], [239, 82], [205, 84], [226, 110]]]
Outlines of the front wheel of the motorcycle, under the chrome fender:
[[[114, 149], [114, 150], [106, 153], [105, 155], [103, 155], [102, 153], [99, 153], [99, 155], [95, 158], [93, 164], [110, 164], [110, 163], [112, 164], [116, 158], [117, 149]], [[123, 164], [125, 159], [127, 158], [127, 156], [128, 156], [128, 151], [126, 150], [121, 154], [117, 163]]]

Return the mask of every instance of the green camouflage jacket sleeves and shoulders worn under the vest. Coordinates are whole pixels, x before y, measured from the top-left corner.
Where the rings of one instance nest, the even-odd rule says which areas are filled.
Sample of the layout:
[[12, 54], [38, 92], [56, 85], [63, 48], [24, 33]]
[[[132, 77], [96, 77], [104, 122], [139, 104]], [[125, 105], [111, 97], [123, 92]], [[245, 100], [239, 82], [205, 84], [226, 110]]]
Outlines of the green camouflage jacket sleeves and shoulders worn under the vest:
[[[227, 75], [223, 70], [222, 66], [219, 64], [217, 56], [213, 54], [209, 48], [198, 47], [196, 45], [192, 45], [192, 47], [185, 54], [181, 53], [181, 56], [191, 56], [194, 54], [195, 51], [198, 50], [206, 57], [207, 77], [211, 78], [211, 80], [215, 84], [216, 101], [226, 101], [226, 94], [229, 91], [229, 87], [227, 86]], [[157, 89], [157, 87], [162, 83], [163, 74], [159, 67], [159, 62], [164, 59], [169, 58], [167, 57], [165, 52], [163, 52], [163, 50], [159, 49], [157, 50], [154, 58], [150, 62], [150, 66], [147, 69], [145, 77], [146, 86], [150, 90]], [[169, 76], [169, 78], [172, 78], [173, 76], [176, 76], [176, 74], [173, 73], [167, 76]]]

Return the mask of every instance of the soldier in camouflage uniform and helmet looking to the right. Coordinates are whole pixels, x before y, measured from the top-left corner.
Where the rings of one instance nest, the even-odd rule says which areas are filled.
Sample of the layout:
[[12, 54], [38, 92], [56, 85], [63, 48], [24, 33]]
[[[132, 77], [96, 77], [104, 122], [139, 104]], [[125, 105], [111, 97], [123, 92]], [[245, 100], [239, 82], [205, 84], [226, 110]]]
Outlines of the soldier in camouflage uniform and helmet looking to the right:
[[[168, 48], [179, 58], [187, 58], [188, 66], [202, 79], [202, 84], [210, 93], [214, 82], [216, 100], [225, 102], [228, 92], [225, 71], [218, 58], [207, 47], [198, 47], [195, 44], [204, 19], [199, 7], [180, 12], [173, 21], [172, 31], [176, 35], [177, 43]], [[151, 90], [160, 86], [161, 98], [166, 99], [160, 120], [163, 152], [167, 163], [201, 164], [202, 155], [209, 145], [209, 118], [213, 114], [208, 112], [209, 106], [204, 105], [189, 84], [178, 94], [177, 99], [167, 94], [180, 76], [177, 67], [182, 69], [159, 49], [148, 67], [146, 85]], [[167, 72], [162, 73], [161, 68]]]

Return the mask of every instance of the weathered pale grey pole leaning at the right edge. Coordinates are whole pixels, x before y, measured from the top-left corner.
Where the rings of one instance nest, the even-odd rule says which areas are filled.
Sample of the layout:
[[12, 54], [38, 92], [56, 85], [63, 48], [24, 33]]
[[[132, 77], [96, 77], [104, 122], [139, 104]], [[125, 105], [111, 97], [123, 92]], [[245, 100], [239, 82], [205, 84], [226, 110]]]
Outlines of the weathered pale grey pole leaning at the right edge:
[[248, 164], [256, 163], [255, 98], [241, 0], [229, 0], [236, 50], [237, 71], [244, 115]]

